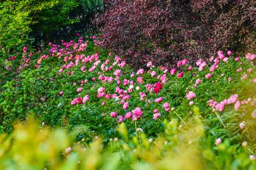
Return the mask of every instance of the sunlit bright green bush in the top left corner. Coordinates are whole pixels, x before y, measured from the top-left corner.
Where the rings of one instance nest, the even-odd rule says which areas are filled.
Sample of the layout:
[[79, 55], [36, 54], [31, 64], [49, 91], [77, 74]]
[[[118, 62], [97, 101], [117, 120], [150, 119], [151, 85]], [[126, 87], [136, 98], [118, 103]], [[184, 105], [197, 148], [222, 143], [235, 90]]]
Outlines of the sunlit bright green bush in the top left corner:
[[31, 31], [28, 25], [28, 11], [22, 10], [25, 4], [17, 5], [17, 2], [4, 1], [0, 3], [0, 64], [3, 64], [3, 59], [7, 59], [10, 51], [15, 53], [21, 51], [23, 46], [31, 41], [28, 33]]

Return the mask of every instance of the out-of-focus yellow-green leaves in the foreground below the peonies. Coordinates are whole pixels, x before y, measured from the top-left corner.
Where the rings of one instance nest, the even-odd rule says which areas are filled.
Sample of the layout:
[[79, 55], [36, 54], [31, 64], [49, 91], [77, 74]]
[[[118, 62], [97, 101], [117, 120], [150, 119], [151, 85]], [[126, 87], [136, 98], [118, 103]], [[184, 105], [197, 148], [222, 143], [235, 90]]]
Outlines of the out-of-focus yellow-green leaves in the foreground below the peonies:
[[205, 142], [196, 138], [204, 136], [204, 131], [199, 130], [203, 128], [200, 121], [195, 123], [180, 128], [175, 120], [171, 124], [164, 121], [166, 132], [151, 141], [142, 132], [128, 138], [122, 123], [118, 131], [125, 139], [106, 143], [96, 137], [87, 145], [84, 139], [74, 143], [65, 130], [38, 127], [30, 120], [26, 125], [17, 125], [8, 137], [0, 136], [0, 169], [255, 170], [256, 160], [247, 156], [247, 146], [237, 153], [237, 146], [225, 140], [212, 148], [209, 138]]

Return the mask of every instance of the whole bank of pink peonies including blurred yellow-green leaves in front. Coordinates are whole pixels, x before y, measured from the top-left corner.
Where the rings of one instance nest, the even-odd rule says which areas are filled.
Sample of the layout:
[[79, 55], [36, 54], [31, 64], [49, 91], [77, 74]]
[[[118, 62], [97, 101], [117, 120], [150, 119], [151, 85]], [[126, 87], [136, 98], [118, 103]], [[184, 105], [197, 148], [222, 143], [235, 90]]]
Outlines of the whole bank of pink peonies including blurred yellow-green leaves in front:
[[0, 169], [255, 170], [255, 54], [135, 69], [100, 44], [23, 48], [0, 94]]

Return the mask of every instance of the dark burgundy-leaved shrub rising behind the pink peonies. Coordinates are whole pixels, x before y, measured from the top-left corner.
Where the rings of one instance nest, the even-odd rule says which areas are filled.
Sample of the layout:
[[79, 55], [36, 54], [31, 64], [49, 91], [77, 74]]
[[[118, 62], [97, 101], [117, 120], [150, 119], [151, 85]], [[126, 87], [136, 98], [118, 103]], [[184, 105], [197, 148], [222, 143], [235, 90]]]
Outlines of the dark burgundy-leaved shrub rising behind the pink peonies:
[[103, 45], [133, 66], [256, 49], [255, 0], [105, 0]]

